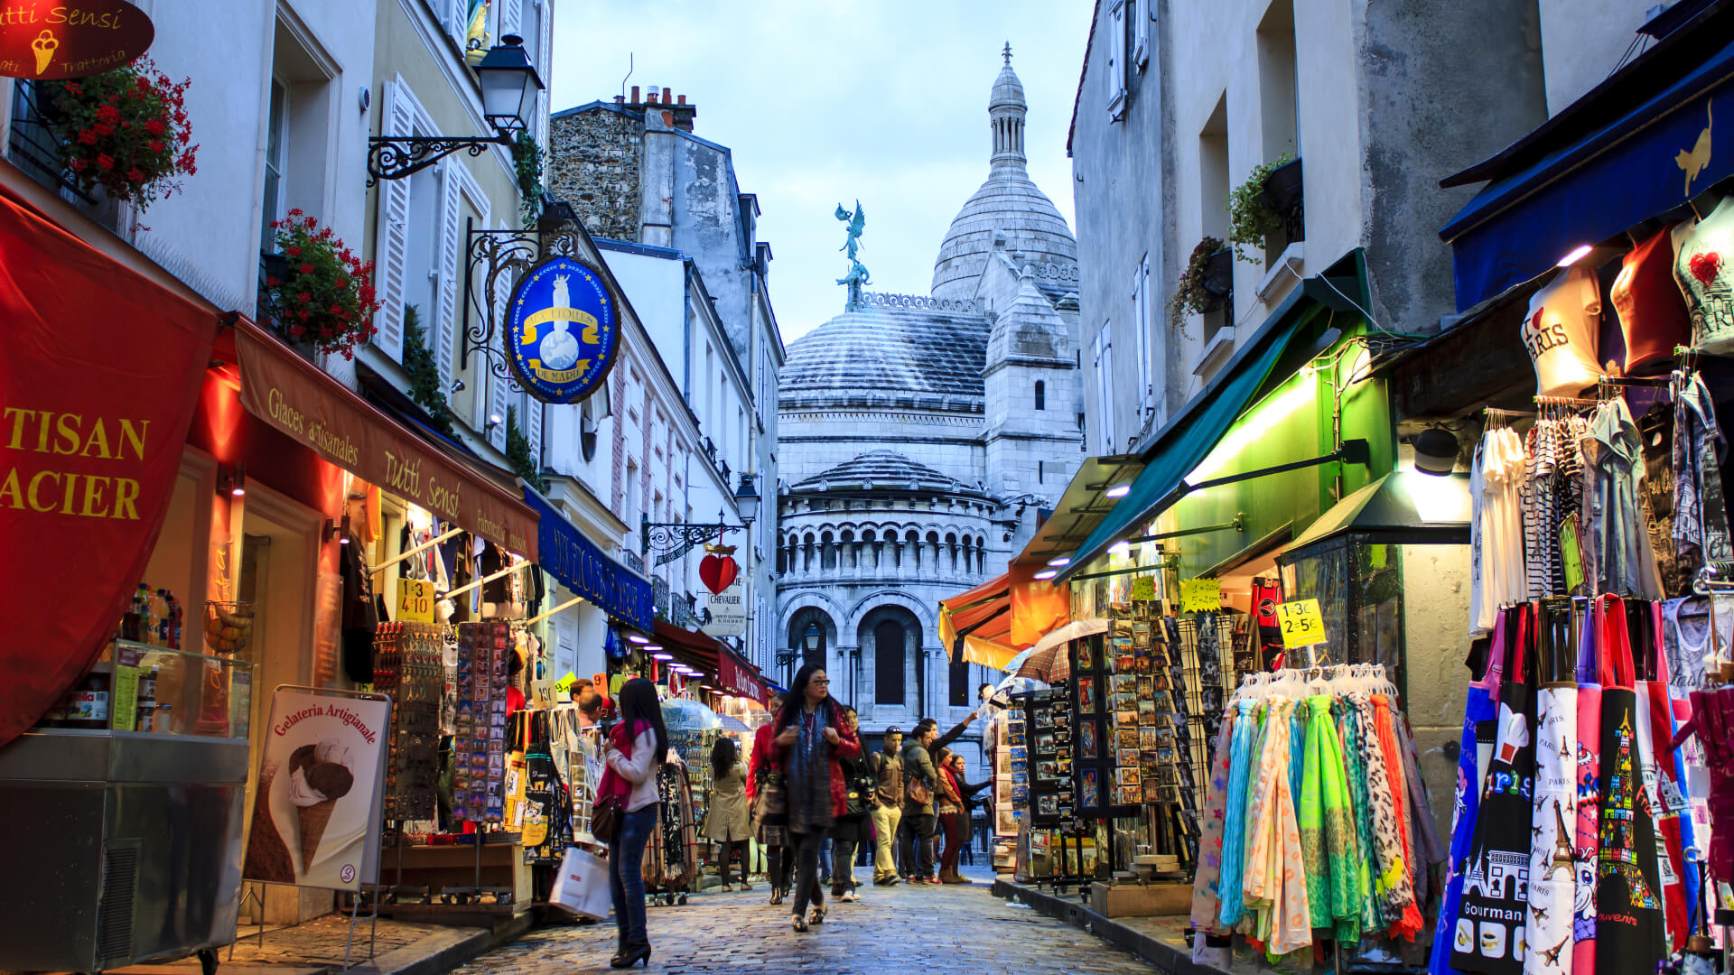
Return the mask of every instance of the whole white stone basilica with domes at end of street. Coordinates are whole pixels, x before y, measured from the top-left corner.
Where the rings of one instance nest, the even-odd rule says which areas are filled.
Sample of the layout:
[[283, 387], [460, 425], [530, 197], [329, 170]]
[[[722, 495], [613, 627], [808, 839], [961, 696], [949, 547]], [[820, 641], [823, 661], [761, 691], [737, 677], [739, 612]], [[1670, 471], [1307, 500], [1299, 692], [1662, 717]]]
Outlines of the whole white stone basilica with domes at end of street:
[[931, 295], [867, 291], [782, 370], [772, 677], [824, 661], [869, 734], [968, 715], [997, 675], [948, 666], [936, 604], [1004, 573], [1082, 460], [1077, 243], [1030, 182], [1004, 57], [988, 177], [940, 245]]

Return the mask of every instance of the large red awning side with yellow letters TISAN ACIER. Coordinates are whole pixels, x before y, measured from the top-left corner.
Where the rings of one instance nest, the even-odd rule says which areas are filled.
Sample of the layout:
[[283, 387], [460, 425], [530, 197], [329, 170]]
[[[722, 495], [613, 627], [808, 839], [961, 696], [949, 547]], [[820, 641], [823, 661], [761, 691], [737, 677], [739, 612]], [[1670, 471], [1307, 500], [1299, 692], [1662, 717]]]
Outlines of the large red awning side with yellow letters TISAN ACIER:
[[[217, 314], [9, 193], [0, 267], [3, 746], [114, 637], [168, 512]], [[203, 593], [179, 595], [192, 611]]]

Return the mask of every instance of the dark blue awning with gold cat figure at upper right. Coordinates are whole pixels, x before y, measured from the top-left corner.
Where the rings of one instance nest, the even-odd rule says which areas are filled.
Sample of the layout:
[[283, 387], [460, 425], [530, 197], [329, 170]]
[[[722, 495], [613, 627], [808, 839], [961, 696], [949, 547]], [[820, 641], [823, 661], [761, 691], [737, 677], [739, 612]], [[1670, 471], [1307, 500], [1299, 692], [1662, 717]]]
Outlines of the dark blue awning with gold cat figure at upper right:
[[1668, 38], [1493, 160], [1441, 182], [1491, 179], [1439, 231], [1453, 250], [1458, 311], [1734, 175], [1727, 36], [1706, 26]]

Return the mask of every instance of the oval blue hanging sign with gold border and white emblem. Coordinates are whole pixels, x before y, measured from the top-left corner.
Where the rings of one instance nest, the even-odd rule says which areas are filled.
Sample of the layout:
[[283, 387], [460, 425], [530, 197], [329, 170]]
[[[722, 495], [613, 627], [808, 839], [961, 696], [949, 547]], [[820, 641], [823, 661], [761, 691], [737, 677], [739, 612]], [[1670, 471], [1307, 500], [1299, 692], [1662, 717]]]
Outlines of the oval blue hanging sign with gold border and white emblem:
[[506, 357], [543, 402], [577, 402], [596, 390], [621, 347], [619, 302], [602, 274], [570, 257], [538, 264], [506, 305]]

